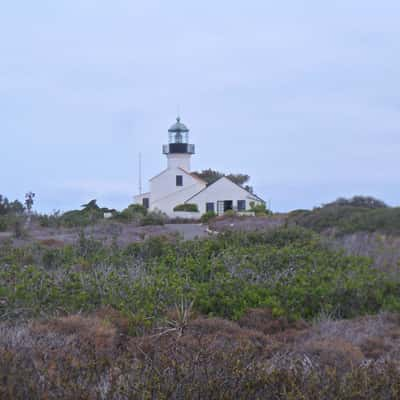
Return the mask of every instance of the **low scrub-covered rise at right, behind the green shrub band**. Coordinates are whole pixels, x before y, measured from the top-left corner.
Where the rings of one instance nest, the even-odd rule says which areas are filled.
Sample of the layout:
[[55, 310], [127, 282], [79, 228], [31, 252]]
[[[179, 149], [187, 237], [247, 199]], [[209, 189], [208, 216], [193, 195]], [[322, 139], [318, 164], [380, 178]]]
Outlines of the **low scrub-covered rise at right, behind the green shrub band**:
[[371, 257], [381, 269], [397, 271], [400, 265], [400, 208], [388, 207], [371, 197], [338, 199], [313, 210], [262, 217], [222, 217], [211, 229], [224, 231], [270, 231], [283, 226], [310, 229], [326, 245], [347, 254]]

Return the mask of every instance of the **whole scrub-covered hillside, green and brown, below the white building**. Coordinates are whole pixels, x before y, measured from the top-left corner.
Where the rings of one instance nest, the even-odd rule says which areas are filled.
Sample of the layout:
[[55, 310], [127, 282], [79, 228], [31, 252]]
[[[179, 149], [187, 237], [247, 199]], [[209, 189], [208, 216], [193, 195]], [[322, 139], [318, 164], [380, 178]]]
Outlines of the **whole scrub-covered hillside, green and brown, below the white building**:
[[399, 398], [397, 209], [372, 204], [196, 240], [90, 215], [9, 232], [0, 398]]

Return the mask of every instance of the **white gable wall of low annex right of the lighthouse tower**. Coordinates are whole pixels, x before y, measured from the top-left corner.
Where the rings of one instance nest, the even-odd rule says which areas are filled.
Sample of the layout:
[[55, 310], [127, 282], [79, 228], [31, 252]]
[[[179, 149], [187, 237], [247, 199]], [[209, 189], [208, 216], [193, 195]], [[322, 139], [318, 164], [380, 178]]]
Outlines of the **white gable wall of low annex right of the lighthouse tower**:
[[261, 203], [261, 200], [257, 197], [225, 177], [208, 186], [207, 189], [203, 190], [192, 199], [188, 199], [187, 203], [197, 204], [200, 211], [199, 214], [202, 215], [206, 212], [206, 203], [214, 203], [214, 210], [217, 212], [217, 201], [225, 200], [232, 200], [234, 209], [237, 207], [238, 200], [246, 201], [246, 210], [250, 210], [251, 202], [255, 204]]

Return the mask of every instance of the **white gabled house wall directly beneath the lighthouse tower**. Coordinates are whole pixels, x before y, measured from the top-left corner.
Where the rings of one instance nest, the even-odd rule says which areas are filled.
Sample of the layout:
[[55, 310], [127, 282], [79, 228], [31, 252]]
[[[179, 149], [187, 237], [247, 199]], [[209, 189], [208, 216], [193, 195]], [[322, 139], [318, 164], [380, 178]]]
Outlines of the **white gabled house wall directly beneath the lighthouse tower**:
[[[182, 186], [176, 186], [177, 175], [183, 178]], [[174, 207], [183, 204], [205, 186], [205, 183], [180, 168], [168, 168], [150, 181], [150, 209], [158, 209], [174, 217]]]

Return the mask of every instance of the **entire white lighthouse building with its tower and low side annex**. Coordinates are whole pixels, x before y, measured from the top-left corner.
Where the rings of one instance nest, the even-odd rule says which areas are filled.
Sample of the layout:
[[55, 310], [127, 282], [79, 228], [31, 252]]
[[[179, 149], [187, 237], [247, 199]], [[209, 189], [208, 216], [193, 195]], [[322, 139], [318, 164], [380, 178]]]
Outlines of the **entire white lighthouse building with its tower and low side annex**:
[[[135, 196], [135, 202], [150, 210], [160, 210], [170, 217], [200, 218], [206, 211], [223, 214], [227, 210], [250, 211], [262, 199], [222, 177], [207, 183], [190, 172], [194, 145], [189, 144], [189, 129], [178, 117], [168, 129], [169, 144], [163, 145], [167, 168], [150, 179], [150, 192]], [[198, 212], [174, 211], [182, 204], [196, 204]]]

